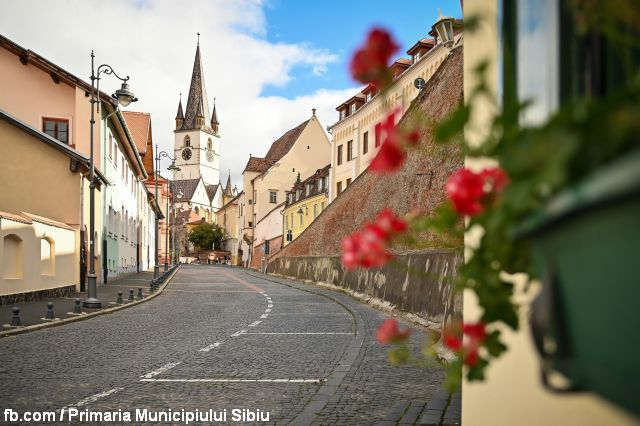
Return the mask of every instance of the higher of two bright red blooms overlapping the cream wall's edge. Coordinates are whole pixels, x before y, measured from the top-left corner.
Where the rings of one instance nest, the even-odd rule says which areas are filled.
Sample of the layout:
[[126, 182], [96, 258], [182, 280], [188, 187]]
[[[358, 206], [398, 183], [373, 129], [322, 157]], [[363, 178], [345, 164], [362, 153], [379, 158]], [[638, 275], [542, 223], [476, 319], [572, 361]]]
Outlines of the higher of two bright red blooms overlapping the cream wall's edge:
[[509, 182], [500, 168], [482, 170], [480, 173], [460, 169], [453, 173], [445, 185], [453, 207], [460, 214], [474, 216], [481, 213], [487, 199], [491, 199]]

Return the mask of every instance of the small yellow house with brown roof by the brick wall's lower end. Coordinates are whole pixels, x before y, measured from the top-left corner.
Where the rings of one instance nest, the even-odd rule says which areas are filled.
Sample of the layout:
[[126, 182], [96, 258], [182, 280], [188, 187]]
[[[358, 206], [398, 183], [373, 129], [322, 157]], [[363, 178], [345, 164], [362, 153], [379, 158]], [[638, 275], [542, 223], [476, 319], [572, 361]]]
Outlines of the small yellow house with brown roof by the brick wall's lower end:
[[318, 217], [329, 202], [329, 169], [327, 165], [307, 179], [298, 180], [287, 193], [283, 216], [283, 246], [298, 238]]

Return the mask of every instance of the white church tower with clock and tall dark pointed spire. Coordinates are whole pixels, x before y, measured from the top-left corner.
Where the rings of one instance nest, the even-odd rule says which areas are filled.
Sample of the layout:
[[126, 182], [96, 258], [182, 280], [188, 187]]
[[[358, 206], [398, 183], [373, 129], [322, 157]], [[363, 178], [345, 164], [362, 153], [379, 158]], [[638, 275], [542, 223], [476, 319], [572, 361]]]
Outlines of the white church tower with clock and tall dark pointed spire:
[[180, 171], [175, 180], [202, 177], [205, 185], [220, 182], [220, 135], [215, 101], [213, 114], [209, 115], [207, 89], [204, 84], [202, 60], [200, 59], [200, 34], [196, 47], [196, 58], [191, 73], [191, 86], [187, 106], [182, 109], [182, 97], [178, 102], [176, 129], [174, 130], [174, 154]]

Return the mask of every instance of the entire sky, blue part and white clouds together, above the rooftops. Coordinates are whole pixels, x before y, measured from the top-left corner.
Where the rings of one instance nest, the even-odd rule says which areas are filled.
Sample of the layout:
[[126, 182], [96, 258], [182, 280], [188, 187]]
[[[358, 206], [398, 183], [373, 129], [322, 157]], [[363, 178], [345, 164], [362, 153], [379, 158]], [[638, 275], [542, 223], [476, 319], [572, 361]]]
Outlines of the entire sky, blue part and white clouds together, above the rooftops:
[[[406, 56], [438, 9], [462, 14], [459, 0], [0, 0], [0, 33], [87, 82], [94, 50], [96, 65], [130, 76], [139, 101], [125, 110], [151, 113], [154, 143], [173, 153], [199, 32], [220, 121], [220, 179], [230, 170], [241, 189], [249, 155], [264, 156], [312, 108], [323, 127], [337, 120], [335, 107], [361, 88], [348, 64], [371, 27], [390, 30]], [[100, 84], [119, 88], [112, 76]]]

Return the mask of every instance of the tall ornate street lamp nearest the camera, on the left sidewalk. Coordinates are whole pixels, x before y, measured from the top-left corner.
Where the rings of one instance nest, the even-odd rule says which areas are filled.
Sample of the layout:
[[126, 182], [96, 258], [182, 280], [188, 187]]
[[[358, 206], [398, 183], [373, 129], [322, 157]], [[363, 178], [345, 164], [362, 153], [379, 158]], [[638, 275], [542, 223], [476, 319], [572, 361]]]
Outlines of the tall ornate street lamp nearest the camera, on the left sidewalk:
[[[89, 120], [89, 144], [90, 144], [90, 158], [89, 158], [89, 274], [87, 275], [87, 299], [83, 302], [85, 308], [100, 308], [102, 302], [98, 300], [97, 289], [97, 277], [95, 269], [95, 188], [96, 188], [96, 176], [95, 176], [95, 163], [93, 158], [93, 127], [95, 120], [95, 104], [99, 104], [100, 98], [100, 74], [113, 74], [118, 80], [122, 81], [122, 87], [116, 91], [112, 96], [117, 100], [117, 103], [123, 107], [128, 106], [131, 102], [136, 102], [138, 98], [133, 95], [133, 92], [129, 90], [129, 76], [121, 78], [111, 68], [110, 65], [102, 64], [98, 67], [97, 73], [94, 64], [95, 55], [93, 50], [91, 51], [91, 119]], [[117, 108], [117, 105], [116, 105]]]

